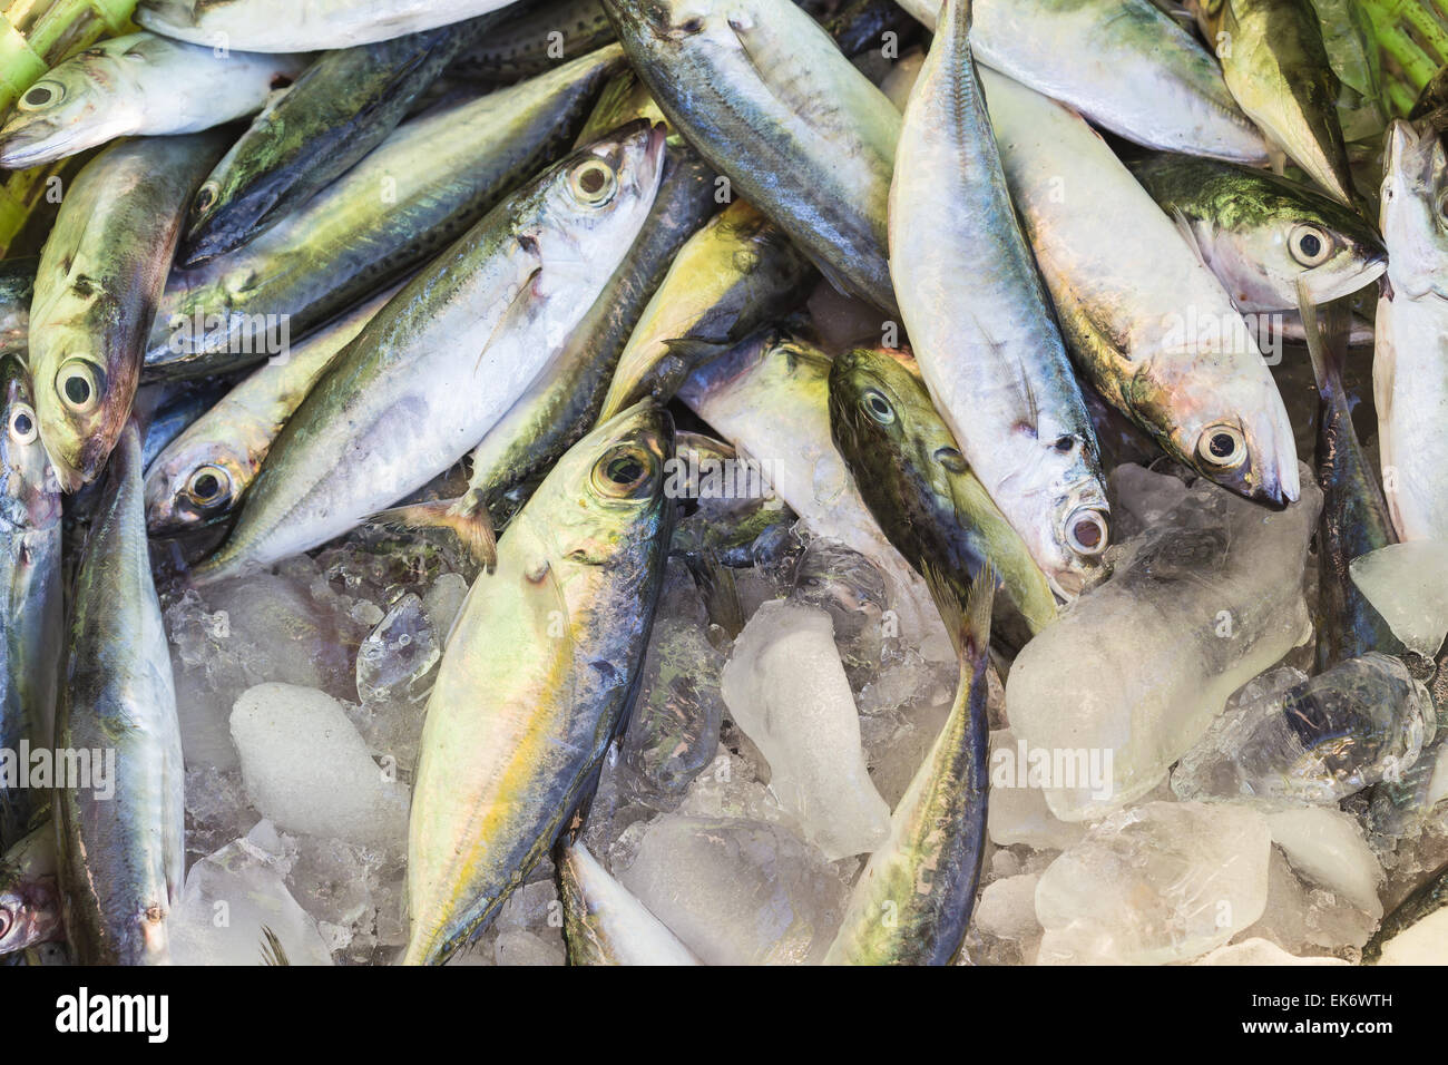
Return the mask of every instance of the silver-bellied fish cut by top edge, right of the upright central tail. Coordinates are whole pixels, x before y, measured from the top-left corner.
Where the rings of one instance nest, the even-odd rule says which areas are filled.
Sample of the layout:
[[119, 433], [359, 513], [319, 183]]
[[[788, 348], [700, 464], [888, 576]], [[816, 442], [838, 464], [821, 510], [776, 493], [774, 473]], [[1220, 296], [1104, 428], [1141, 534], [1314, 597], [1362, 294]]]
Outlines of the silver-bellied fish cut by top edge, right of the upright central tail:
[[[935, 28], [934, 0], [901, 6]], [[970, 43], [979, 62], [1128, 141], [1267, 161], [1267, 142], [1221, 67], [1151, 0], [976, 0]]]

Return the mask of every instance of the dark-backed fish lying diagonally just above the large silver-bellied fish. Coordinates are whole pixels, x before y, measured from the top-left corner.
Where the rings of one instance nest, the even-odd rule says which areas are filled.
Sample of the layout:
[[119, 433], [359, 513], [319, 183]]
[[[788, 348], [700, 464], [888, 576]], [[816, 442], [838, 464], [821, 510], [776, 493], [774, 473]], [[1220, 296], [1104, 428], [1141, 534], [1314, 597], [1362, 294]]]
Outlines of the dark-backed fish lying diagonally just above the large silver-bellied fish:
[[313, 329], [436, 256], [557, 159], [615, 48], [404, 123], [330, 188], [242, 248], [172, 271], [146, 342], [146, 377], [239, 369], [274, 338]]

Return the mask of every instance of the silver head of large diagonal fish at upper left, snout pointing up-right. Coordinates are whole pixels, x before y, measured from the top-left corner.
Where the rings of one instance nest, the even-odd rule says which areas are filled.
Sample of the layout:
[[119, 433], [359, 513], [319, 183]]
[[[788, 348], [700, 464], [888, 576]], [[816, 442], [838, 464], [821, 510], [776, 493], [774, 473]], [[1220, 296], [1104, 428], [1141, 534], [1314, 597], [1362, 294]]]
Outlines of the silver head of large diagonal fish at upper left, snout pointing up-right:
[[544, 277], [633, 242], [663, 180], [665, 138], [663, 126], [630, 122], [553, 170], [537, 193], [539, 220], [518, 235]]

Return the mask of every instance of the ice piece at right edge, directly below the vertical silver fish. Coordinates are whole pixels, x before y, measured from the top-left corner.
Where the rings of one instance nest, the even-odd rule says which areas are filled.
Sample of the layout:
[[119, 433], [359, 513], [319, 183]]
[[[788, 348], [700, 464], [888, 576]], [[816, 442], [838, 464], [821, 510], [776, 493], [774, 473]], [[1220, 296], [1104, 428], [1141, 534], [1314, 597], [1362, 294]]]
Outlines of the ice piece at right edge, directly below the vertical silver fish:
[[1348, 574], [1403, 646], [1438, 653], [1448, 633], [1448, 543], [1390, 543], [1354, 558]]

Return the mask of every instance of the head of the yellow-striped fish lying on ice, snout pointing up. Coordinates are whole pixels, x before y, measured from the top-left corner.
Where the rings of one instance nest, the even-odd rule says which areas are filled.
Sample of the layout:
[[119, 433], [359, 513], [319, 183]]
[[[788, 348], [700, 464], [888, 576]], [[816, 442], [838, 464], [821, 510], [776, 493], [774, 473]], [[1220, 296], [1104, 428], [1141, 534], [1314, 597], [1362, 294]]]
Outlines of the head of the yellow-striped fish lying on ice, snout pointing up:
[[543, 514], [569, 565], [637, 565], [668, 535], [679, 477], [672, 459], [673, 419], [646, 400], [573, 445], [521, 517]]

